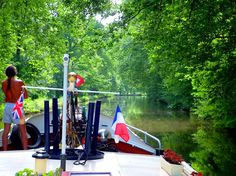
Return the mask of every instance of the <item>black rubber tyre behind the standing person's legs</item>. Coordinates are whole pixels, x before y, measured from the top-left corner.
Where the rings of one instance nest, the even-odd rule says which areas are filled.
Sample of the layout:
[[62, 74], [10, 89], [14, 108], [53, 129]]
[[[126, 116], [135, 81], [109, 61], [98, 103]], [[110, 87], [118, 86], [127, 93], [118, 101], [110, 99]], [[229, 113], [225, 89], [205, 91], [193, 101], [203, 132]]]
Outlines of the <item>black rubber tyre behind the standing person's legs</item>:
[[[41, 134], [38, 128], [31, 123], [26, 123], [26, 131], [29, 142], [28, 148], [29, 149], [38, 148], [41, 144]], [[18, 150], [22, 149], [20, 134], [17, 125], [14, 125], [12, 128], [10, 140], [13, 147], [15, 147]]]

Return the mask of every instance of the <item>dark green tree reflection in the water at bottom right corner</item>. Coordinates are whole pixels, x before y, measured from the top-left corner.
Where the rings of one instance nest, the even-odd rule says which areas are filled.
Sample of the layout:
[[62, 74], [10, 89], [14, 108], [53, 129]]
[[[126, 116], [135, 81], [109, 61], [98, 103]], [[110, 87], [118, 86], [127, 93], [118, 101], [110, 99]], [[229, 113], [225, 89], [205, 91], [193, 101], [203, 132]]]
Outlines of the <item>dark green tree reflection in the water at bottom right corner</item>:
[[201, 127], [194, 135], [197, 150], [191, 153], [193, 166], [204, 175], [233, 176], [236, 170], [235, 129]]

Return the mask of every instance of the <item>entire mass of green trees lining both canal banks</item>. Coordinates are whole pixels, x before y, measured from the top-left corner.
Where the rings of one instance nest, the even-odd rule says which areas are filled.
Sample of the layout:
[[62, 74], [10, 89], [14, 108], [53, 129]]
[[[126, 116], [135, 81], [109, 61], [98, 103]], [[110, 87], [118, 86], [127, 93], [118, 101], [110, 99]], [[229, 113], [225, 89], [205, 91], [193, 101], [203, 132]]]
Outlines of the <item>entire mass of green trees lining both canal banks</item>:
[[[27, 85], [61, 88], [63, 54], [68, 53], [69, 71], [85, 78], [80, 89], [141, 92], [171, 108], [190, 110], [215, 128], [235, 129], [235, 1], [121, 2], [1, 1], [1, 80], [5, 67], [14, 64]], [[114, 14], [119, 18], [111, 24], [97, 18]], [[32, 99], [61, 96], [29, 93]], [[0, 98], [2, 104], [2, 92]], [[194, 156], [199, 155], [213, 160], [209, 170], [216, 168], [215, 153]], [[227, 167], [217, 169], [226, 172]]]

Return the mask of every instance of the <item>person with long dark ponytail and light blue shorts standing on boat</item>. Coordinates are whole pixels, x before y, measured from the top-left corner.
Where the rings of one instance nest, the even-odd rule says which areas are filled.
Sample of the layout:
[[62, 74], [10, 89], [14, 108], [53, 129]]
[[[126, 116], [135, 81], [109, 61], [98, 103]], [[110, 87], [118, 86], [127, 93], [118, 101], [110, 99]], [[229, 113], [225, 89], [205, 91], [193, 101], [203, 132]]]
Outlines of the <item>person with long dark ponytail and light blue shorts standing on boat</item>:
[[9, 65], [6, 68], [5, 74], [7, 76], [7, 79], [2, 81], [2, 90], [5, 94], [5, 108], [2, 120], [4, 123], [4, 131], [2, 134], [3, 150], [7, 150], [8, 134], [11, 129], [11, 123], [18, 125], [22, 146], [23, 149], [26, 150], [28, 146], [28, 140], [24, 115], [23, 118], [14, 119], [12, 110], [17, 100], [21, 96], [22, 91], [24, 91], [24, 98], [28, 98], [28, 93], [26, 89], [22, 88], [22, 86], [25, 85], [24, 82], [20, 79], [15, 78], [17, 70], [13, 65]]

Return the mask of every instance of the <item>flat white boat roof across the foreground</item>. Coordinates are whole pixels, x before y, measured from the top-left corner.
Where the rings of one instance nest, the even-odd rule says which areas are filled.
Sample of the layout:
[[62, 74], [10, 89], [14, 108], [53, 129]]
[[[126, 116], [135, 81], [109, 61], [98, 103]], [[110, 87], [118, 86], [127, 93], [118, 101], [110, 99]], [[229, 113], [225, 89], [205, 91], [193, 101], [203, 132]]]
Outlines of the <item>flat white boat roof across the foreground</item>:
[[[34, 170], [35, 158], [32, 155], [36, 150], [14, 150], [0, 152], [0, 175], [14, 176], [16, 172], [25, 168]], [[119, 152], [104, 152], [104, 158], [88, 160], [85, 165], [74, 165], [74, 160], [66, 161], [66, 171], [99, 175], [108, 173], [112, 176], [168, 176], [161, 168], [159, 156], [129, 154]], [[55, 171], [60, 167], [60, 160], [47, 160], [47, 172]], [[107, 175], [107, 174], [103, 174]]]

